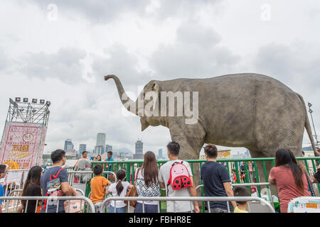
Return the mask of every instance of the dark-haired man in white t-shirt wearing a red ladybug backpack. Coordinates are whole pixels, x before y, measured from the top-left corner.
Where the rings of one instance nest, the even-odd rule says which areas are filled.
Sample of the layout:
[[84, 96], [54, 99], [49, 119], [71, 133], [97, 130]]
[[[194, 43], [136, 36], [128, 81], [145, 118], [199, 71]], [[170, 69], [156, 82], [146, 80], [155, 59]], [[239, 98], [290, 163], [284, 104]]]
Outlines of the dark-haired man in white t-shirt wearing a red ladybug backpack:
[[[166, 146], [166, 148], [168, 148], [169, 162], [166, 162], [166, 164], [160, 167], [160, 187], [162, 189], [166, 189], [167, 196], [197, 196], [190, 165], [188, 162], [178, 159], [180, 145], [172, 141]], [[167, 185], [170, 177], [171, 166], [174, 164], [174, 162], [182, 162], [182, 164], [186, 166], [191, 179], [191, 187], [174, 190], [172, 189], [171, 184]], [[200, 212], [198, 201], [167, 201], [166, 207], [167, 212]]]

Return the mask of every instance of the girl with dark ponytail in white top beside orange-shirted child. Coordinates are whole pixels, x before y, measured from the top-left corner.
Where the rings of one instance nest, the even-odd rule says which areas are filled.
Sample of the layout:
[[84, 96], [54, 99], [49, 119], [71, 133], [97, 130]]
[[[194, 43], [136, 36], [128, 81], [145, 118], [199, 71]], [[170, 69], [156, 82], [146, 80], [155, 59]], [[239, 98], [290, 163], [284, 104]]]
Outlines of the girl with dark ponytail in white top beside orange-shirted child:
[[[127, 177], [125, 170], [118, 170], [116, 176], [117, 182], [110, 185], [110, 187], [107, 189], [107, 194], [112, 193], [112, 196], [124, 197], [127, 194], [127, 189], [132, 188], [132, 184], [124, 181]], [[113, 200], [110, 205], [109, 213], [114, 213], [114, 207], [116, 208], [116, 213], [125, 213], [125, 208], [127, 205], [124, 204], [123, 200], [117, 200], [117, 204], [114, 204], [115, 201]]]

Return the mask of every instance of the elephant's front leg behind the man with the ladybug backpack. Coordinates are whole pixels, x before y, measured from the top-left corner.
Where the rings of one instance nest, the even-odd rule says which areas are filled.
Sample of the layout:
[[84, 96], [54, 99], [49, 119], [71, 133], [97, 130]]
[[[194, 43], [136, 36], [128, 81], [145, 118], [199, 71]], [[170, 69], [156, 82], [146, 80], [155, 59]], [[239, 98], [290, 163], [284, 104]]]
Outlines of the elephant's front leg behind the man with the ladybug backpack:
[[[179, 159], [198, 160], [206, 136], [203, 126], [200, 123], [186, 125], [183, 121], [171, 123], [169, 130], [171, 140], [180, 145]], [[198, 163], [191, 165], [193, 165], [193, 181], [197, 187], [200, 184], [200, 167]]]

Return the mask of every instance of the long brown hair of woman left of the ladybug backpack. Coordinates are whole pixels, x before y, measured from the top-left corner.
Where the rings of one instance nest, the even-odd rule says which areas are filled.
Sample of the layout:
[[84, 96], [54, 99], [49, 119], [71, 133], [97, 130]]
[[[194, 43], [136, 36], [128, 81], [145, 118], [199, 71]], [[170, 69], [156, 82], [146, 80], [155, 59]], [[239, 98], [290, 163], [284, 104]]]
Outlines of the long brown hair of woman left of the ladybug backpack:
[[146, 187], [149, 187], [152, 182], [158, 182], [159, 168], [156, 165], [156, 155], [152, 151], [147, 151], [144, 154], [142, 170], [144, 170], [144, 184], [146, 184]]

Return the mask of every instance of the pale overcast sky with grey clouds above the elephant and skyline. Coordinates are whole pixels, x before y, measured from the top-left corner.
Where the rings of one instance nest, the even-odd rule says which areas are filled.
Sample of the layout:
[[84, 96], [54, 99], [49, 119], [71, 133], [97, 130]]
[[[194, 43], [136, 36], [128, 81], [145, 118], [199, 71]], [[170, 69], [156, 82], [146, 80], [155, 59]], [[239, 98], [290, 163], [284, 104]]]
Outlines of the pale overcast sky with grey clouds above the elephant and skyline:
[[106, 74], [137, 96], [151, 79], [255, 72], [311, 102], [320, 133], [319, 24], [318, 0], [1, 0], [0, 128], [9, 98], [34, 97], [51, 101], [45, 152], [66, 138], [92, 150], [106, 133], [113, 148], [142, 138], [157, 154], [169, 129], [123, 116]]

